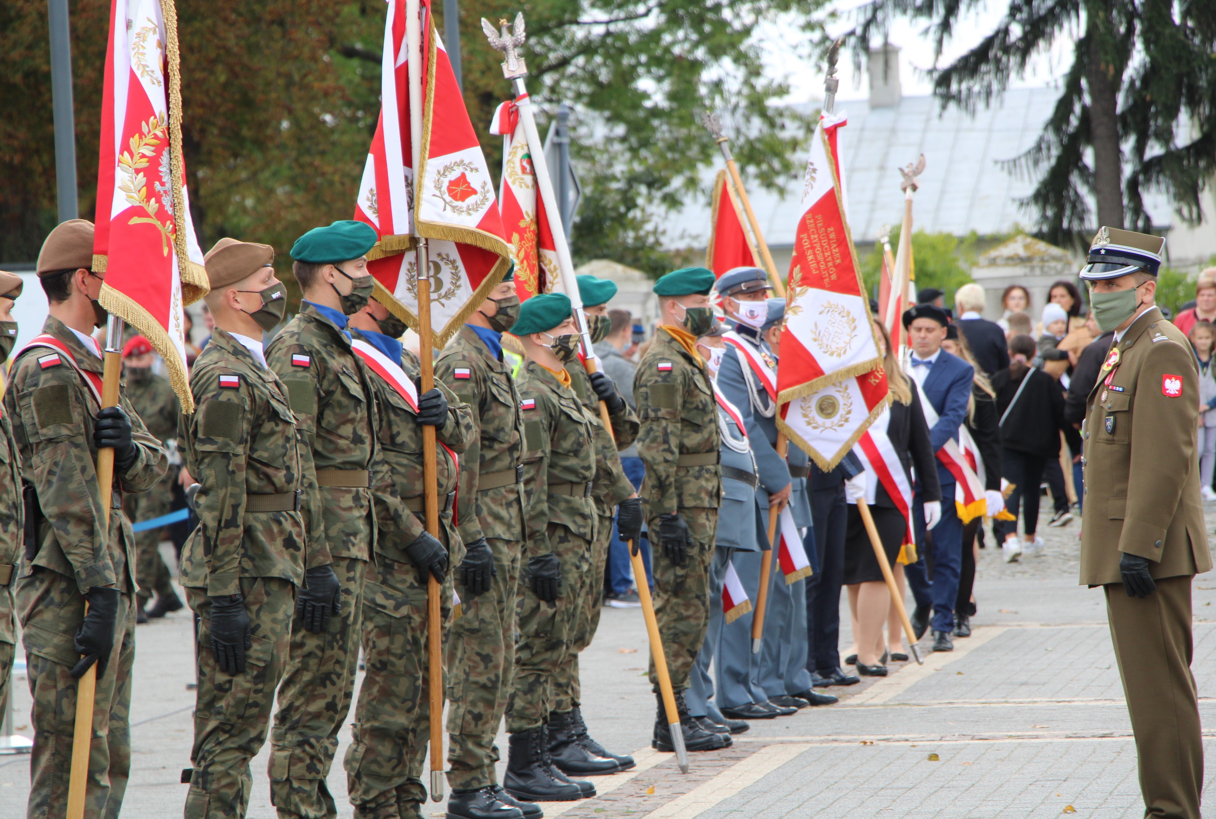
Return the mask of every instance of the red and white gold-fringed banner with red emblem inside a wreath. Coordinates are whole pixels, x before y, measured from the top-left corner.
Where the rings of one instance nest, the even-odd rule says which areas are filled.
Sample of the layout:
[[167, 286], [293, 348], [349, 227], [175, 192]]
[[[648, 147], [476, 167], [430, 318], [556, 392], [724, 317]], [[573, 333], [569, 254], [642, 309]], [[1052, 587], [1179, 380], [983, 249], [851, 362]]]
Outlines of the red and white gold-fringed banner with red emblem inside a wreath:
[[364, 166], [355, 219], [381, 237], [367, 254], [377, 298], [415, 328], [417, 262], [415, 254], [402, 252], [411, 235], [427, 239], [430, 321], [434, 344], [441, 348], [501, 281], [511, 249], [489, 165], [432, 21], [430, 1], [422, 0], [420, 9], [423, 98], [417, 180], [411, 168], [406, 2], [390, 0], [384, 68], [392, 70], [382, 70], [381, 118]]

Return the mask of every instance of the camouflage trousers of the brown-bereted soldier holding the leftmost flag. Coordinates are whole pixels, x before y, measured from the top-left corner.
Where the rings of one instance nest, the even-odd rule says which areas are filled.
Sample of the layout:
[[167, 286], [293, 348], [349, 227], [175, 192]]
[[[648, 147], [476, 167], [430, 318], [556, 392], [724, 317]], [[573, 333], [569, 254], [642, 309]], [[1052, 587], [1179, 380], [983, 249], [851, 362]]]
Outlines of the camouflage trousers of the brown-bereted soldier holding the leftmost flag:
[[[84, 597], [74, 577], [35, 566], [17, 580], [29, 693], [34, 697], [34, 751], [29, 761], [29, 819], [67, 815], [75, 730], [77, 680], [69, 673], [80, 655], [72, 648]], [[135, 663], [135, 601], [118, 604], [114, 650], [97, 678], [85, 783], [85, 819], [117, 819], [131, 769], [131, 666]]]

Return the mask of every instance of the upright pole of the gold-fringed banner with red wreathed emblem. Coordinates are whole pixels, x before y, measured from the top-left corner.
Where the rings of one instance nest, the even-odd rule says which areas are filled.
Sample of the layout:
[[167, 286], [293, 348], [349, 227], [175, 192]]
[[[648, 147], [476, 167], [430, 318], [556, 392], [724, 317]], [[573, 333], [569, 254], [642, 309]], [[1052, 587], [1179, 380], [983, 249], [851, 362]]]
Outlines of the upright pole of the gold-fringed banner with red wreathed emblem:
[[[430, 21], [427, 21], [430, 24]], [[413, 151], [415, 202], [422, 197], [422, 19], [418, 0], [406, 0], [405, 39], [410, 77], [410, 147]], [[430, 277], [427, 276], [427, 241], [417, 236], [415, 226], [415, 278], [418, 292], [418, 362], [420, 392], [435, 385], [434, 334], [430, 327]], [[439, 468], [435, 463], [435, 428], [422, 428], [422, 491], [426, 508], [427, 532], [439, 537]], [[427, 576], [427, 693], [429, 695], [430, 722], [430, 801], [444, 798], [444, 659], [443, 659], [443, 601], [435, 576]]]

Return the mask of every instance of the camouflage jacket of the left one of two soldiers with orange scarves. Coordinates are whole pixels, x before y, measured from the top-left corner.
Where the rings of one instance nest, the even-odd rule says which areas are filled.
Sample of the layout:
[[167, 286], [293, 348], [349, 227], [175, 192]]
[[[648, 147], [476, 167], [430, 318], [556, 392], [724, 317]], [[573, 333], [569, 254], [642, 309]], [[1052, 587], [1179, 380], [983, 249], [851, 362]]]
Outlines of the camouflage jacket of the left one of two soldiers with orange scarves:
[[524, 558], [552, 552], [550, 524], [579, 537], [595, 538], [596, 509], [591, 486], [596, 476], [595, 433], [590, 413], [574, 391], [535, 361], [519, 371], [524, 417], [524, 486], [528, 540]]

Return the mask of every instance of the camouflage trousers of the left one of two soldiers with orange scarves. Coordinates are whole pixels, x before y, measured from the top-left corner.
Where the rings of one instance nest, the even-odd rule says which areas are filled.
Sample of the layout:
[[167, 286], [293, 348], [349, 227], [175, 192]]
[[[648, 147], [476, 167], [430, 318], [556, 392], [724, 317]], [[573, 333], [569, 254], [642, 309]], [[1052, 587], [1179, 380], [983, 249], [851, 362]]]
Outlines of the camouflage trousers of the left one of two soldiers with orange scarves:
[[587, 541], [561, 524], [550, 524], [548, 542], [562, 561], [562, 591], [556, 600], [545, 603], [533, 592], [527, 566], [520, 571], [519, 642], [506, 712], [511, 734], [539, 728], [557, 711], [554, 677], [570, 659], [570, 636], [581, 589], [590, 582]]

